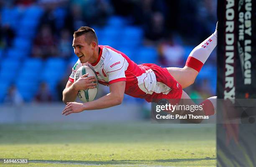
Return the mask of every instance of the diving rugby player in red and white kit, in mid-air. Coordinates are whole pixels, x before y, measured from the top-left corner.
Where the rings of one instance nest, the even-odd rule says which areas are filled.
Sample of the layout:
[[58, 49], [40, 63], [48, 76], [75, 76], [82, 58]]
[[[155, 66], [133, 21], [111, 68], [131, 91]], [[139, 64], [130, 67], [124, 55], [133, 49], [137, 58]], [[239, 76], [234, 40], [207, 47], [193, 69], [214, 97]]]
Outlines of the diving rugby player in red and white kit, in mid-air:
[[[73, 36], [72, 46], [78, 60], [72, 68], [72, 74], [63, 91], [63, 102], [67, 104], [62, 112], [63, 115], [120, 105], [124, 93], [132, 97], [143, 98], [147, 102], [175, 99], [175, 102], [179, 103], [180, 99], [190, 99], [182, 88], [194, 83], [205, 61], [217, 45], [216, 27], [210, 37], [192, 50], [183, 68], [162, 68], [155, 64], [137, 65], [124, 53], [110, 46], [98, 45], [96, 33], [90, 27], [80, 27]], [[108, 85], [110, 93], [92, 102], [74, 102], [79, 90], [94, 88], [96, 85], [93, 83], [96, 81], [95, 77], [87, 77], [88, 74], [74, 82], [75, 72], [82, 65], [94, 69], [98, 82]], [[189, 104], [195, 105], [192, 100]], [[213, 115], [214, 112], [212, 112], [212, 107], [209, 109], [205, 107], [197, 114]]]

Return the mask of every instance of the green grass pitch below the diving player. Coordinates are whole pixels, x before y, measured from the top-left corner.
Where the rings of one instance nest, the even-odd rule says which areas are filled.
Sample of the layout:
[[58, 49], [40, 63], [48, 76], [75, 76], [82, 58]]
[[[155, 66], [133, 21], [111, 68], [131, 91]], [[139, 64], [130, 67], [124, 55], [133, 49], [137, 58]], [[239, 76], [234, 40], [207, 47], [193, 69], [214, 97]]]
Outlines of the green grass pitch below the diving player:
[[0, 167], [216, 167], [214, 125], [151, 122], [0, 125]]

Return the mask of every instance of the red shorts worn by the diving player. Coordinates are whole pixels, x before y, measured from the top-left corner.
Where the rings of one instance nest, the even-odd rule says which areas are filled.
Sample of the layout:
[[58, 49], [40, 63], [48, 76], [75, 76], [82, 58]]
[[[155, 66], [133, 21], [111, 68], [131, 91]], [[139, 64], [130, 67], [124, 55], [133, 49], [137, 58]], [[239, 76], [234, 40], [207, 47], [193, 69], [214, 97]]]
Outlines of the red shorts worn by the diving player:
[[145, 99], [147, 102], [159, 102], [161, 99], [168, 99], [171, 103], [179, 103], [179, 100], [182, 97], [182, 86], [177, 82], [174, 77], [168, 72], [166, 68], [162, 68], [155, 64], [142, 64], [143, 66], [150, 67], [155, 75], [156, 81], [162, 82], [172, 90], [168, 94], [156, 93], [147, 96]]

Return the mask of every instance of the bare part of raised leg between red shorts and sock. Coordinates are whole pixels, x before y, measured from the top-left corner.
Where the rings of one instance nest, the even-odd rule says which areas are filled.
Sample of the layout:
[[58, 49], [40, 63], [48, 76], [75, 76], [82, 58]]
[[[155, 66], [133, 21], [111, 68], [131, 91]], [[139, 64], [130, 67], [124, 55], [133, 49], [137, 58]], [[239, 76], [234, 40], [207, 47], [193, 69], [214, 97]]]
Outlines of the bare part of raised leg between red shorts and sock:
[[195, 82], [195, 78], [198, 75], [197, 70], [191, 67], [185, 66], [183, 68], [167, 67], [168, 72], [174, 77], [182, 88], [186, 88]]

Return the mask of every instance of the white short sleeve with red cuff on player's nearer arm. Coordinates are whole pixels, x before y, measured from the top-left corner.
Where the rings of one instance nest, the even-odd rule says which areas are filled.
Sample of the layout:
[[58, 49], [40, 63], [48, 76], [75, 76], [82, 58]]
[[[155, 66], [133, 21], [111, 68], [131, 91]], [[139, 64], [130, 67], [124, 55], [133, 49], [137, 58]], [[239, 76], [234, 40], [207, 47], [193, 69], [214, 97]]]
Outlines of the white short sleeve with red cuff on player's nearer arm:
[[125, 58], [123, 56], [115, 56], [112, 57], [107, 63], [106, 72], [108, 75], [109, 84], [113, 84], [115, 82], [126, 81], [125, 77]]

